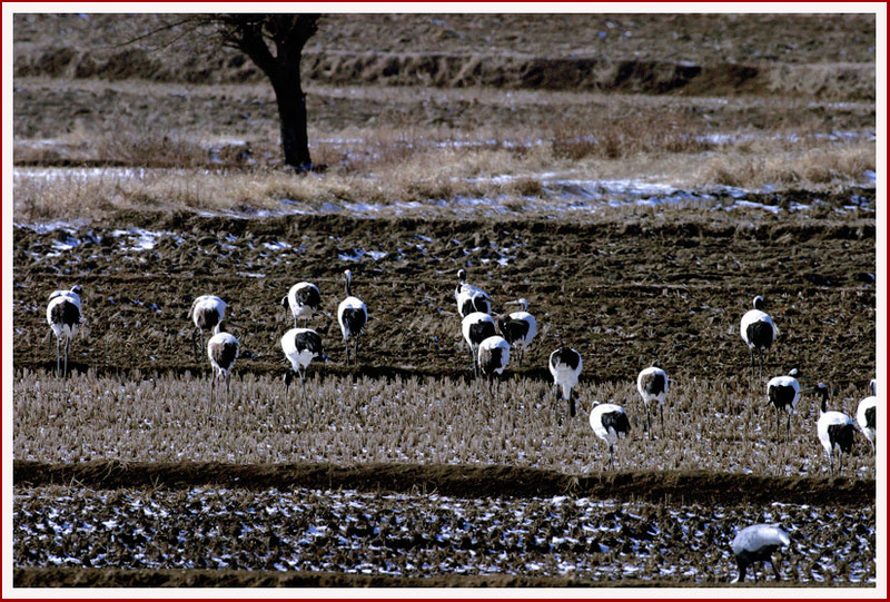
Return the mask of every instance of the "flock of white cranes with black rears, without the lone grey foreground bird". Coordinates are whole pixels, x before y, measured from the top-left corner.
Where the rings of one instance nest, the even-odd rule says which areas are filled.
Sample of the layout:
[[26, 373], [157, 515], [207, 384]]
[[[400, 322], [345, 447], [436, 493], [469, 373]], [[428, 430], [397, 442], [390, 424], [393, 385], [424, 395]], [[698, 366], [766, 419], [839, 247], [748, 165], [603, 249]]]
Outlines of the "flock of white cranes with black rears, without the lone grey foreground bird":
[[[368, 319], [368, 309], [365, 303], [356, 297], [352, 290], [353, 275], [346, 269], [343, 273], [346, 297], [337, 308], [337, 322], [340, 326], [345, 345], [346, 364], [358, 364], [359, 341], [365, 333]], [[494, 386], [497, 389], [500, 379], [511, 361], [511, 355], [517, 356], [522, 365], [525, 349], [537, 335], [537, 322], [528, 313], [528, 302], [520, 298], [508, 304], [521, 307], [520, 310], [507, 315], [492, 315], [492, 298], [478, 286], [467, 284], [466, 270], [457, 273], [458, 284], [454, 292], [457, 310], [462, 317], [461, 330], [472, 356], [473, 373], [476, 377], [485, 378], [488, 391]], [[68, 372], [68, 352], [71, 338], [82, 322], [80, 286], [70, 290], [55, 290], [50, 295], [47, 306], [47, 322], [51, 334], [56, 335], [56, 369], [58, 374]], [[281, 305], [289, 308], [294, 317], [294, 327], [281, 337], [281, 351], [290, 362], [290, 369], [285, 374], [285, 384], [289, 387], [295, 376], [298, 376], [305, 386], [306, 371], [316, 359], [327, 359], [320, 335], [308, 327], [298, 327], [298, 320], [309, 320], [314, 314], [323, 312], [322, 294], [312, 283], [298, 283], [281, 298]], [[754, 308], [749, 310], [741, 319], [741, 336], [751, 352], [751, 374], [755, 369], [755, 352], [760, 359], [760, 374], [763, 371], [763, 357], [770, 349], [779, 328], [765, 312], [763, 297], [753, 299]], [[226, 303], [214, 295], [201, 295], [195, 299], [188, 313], [188, 318], [194, 323], [192, 345], [196, 357], [200, 348], [207, 349], [207, 357], [214, 371], [210, 389], [211, 394], [218, 391], [222, 383], [226, 393], [229, 392], [231, 371], [238, 359], [240, 344], [238, 339], [227, 333], [224, 327], [226, 317]], [[498, 334], [500, 330], [500, 334]], [[212, 333], [206, 345], [205, 332]], [[48, 338], [49, 342], [49, 338]], [[352, 352], [352, 353], [350, 353]], [[574, 417], [576, 413], [575, 386], [582, 369], [581, 354], [560, 343], [560, 347], [550, 354], [548, 368], [553, 375], [555, 395], [568, 403], [568, 414]], [[846, 414], [828, 409], [829, 389], [819, 383], [808, 389], [802, 389], [800, 379], [803, 378], [798, 369], [792, 369], [788, 375], [771, 378], [767, 384], [767, 399], [775, 407], [777, 437], [781, 436], [781, 413], [787, 414], [785, 438], [790, 438], [791, 413], [802, 393], [814, 393], [821, 397], [820, 416], [817, 423], [819, 441], [829, 460], [829, 472], [834, 474], [834, 455], [838, 456], [838, 471], [843, 467], [843, 455], [849, 454], [856, 435], [856, 424]], [[664, 403], [669, 391], [668, 374], [653, 363], [652, 366], [640, 372], [636, 381], [637, 391], [645, 408], [644, 430], [651, 435], [652, 420], [650, 405], [656, 404], [656, 409], [662, 428], [664, 425]], [[868, 438], [874, 452], [877, 426], [877, 385], [871, 382], [872, 395], [862, 399], [857, 412], [859, 430]], [[614, 447], [617, 440], [630, 432], [630, 421], [623, 407], [614, 403], [594, 402], [590, 412], [590, 425], [594, 434], [601, 438], [609, 448], [607, 466], [613, 465]]]

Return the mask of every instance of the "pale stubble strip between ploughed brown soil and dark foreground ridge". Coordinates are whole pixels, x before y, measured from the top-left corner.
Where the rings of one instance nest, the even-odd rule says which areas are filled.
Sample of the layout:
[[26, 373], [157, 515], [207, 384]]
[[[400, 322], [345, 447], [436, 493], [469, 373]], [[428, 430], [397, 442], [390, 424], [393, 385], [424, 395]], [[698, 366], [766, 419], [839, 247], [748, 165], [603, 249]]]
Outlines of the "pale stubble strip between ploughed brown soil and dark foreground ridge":
[[[775, 412], [744, 383], [676, 382], [655, 438], [642, 428], [634, 383], [584, 383], [580, 415], [567, 416], [550, 383], [508, 378], [491, 396], [478, 383], [319, 376], [286, 393], [280, 378], [245, 374], [231, 397], [210, 398], [204, 376], [130, 378], [77, 375], [67, 382], [28, 371], [16, 376], [14, 457], [87, 460], [416, 462], [511, 464], [585, 473], [603, 468], [605, 445], [586, 420], [594, 401], [631, 416], [617, 466], [635, 470], [805, 475], [827, 471], [814, 436], [817, 403], [804, 397], [792, 438], [777, 444]], [[832, 407], [854, 412], [860, 392], [835, 392]], [[873, 466], [864, 438], [852, 461]]]

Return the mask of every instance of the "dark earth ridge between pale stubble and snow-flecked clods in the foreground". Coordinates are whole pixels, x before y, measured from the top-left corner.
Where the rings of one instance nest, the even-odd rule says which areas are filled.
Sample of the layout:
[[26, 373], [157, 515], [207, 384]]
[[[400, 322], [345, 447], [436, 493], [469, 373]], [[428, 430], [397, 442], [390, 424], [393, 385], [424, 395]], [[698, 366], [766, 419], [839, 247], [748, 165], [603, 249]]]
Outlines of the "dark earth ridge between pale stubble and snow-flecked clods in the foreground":
[[623, 501], [735, 505], [799, 503], [868, 505], [873, 478], [782, 477], [706, 471], [622, 471], [575, 476], [557, 471], [486, 465], [368, 463], [228, 464], [216, 462], [92, 461], [51, 464], [16, 460], [16, 486], [69, 485], [91, 488], [201, 485], [268, 490], [307, 487], [393, 493], [437, 493], [482, 499], [576, 495]]

